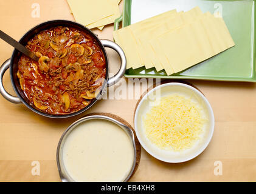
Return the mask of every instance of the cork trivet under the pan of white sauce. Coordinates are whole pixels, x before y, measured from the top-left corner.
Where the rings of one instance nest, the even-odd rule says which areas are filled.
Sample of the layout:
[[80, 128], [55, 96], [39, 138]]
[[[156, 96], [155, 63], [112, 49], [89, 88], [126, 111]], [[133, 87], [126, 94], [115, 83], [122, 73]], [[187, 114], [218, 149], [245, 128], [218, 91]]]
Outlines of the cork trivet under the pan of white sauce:
[[129, 181], [131, 179], [131, 177], [134, 175], [134, 173], [136, 172], [137, 168], [139, 167], [140, 156], [141, 156], [141, 147], [140, 147], [139, 140], [137, 139], [135, 130], [133, 129], [133, 127], [131, 127], [131, 125], [127, 121], [125, 121], [124, 119], [120, 118], [119, 116], [113, 115], [111, 113], [90, 113], [88, 115], [85, 115], [84, 117], [92, 116], [92, 115], [108, 116], [109, 118], [116, 119], [117, 121], [121, 122], [122, 124], [129, 127], [131, 130], [133, 130], [135, 146], [136, 146], [136, 164], [135, 164], [133, 173], [131, 174], [130, 178], [128, 179], [128, 181]]

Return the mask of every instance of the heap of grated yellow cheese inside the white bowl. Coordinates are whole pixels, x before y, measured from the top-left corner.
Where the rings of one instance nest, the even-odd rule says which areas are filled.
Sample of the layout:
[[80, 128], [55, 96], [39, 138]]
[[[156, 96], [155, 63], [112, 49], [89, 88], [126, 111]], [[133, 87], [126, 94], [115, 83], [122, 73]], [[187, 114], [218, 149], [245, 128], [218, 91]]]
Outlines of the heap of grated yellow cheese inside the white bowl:
[[143, 118], [147, 138], [162, 150], [190, 149], [200, 138], [207, 120], [201, 106], [177, 94], [158, 102]]

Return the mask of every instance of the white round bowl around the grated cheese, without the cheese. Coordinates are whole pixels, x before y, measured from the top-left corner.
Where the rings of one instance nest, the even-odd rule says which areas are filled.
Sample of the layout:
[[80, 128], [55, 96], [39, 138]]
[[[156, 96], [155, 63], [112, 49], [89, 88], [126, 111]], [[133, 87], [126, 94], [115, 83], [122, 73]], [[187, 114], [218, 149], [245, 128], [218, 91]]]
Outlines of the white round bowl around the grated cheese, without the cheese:
[[[204, 125], [204, 133], [200, 140], [197, 141], [189, 150], [181, 152], [161, 150], [154, 146], [144, 133], [142, 121], [143, 116], [145, 116], [145, 114], [150, 110], [151, 103], [153, 103], [157, 98], [160, 98], [160, 96], [163, 97], [175, 93], [190, 96], [194, 101], [198, 101], [202, 105], [204, 113], [206, 113], [208, 118], [206, 125]], [[154, 158], [170, 163], [189, 161], [202, 153], [212, 139], [214, 122], [213, 110], [206, 97], [194, 87], [176, 82], [162, 84], [150, 90], [150, 92], [148, 92], [139, 102], [134, 116], [136, 135], [142, 147]]]

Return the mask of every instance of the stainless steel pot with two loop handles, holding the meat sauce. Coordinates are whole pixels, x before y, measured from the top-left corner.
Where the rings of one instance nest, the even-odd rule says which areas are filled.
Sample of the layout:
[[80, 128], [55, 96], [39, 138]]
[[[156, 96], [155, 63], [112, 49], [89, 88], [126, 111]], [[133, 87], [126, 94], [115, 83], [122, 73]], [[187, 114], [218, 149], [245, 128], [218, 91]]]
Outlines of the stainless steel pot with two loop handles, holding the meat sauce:
[[[117, 81], [119, 81], [120, 78], [122, 78], [122, 76], [125, 73], [125, 69], [126, 69], [126, 58], [125, 58], [125, 53], [119, 47], [119, 45], [117, 45], [116, 43], [114, 43], [112, 41], [106, 40], [106, 39], [99, 39], [97, 37], [97, 35], [95, 35], [91, 30], [89, 30], [85, 26], [78, 24], [77, 22], [73, 22], [73, 21], [53, 20], [53, 21], [47, 21], [42, 24], [36, 25], [36, 27], [33, 27], [31, 30], [29, 30], [29, 32], [27, 32], [24, 36], [22, 36], [22, 38], [19, 40], [19, 42], [22, 45], [26, 45], [27, 42], [29, 41], [29, 39], [33, 38], [33, 36], [35, 36], [37, 33], [40, 33], [42, 30], [47, 30], [51, 27], [57, 27], [57, 26], [73, 27], [73, 28], [77, 28], [78, 30], [88, 33], [99, 44], [100, 49], [102, 49], [103, 55], [105, 56], [105, 59], [106, 59], [106, 76], [105, 76], [105, 82], [102, 85], [102, 90], [100, 91], [97, 98], [95, 98], [94, 101], [92, 101], [91, 104], [89, 104], [84, 109], [82, 109], [78, 112], [69, 113], [66, 115], [51, 115], [49, 113], [41, 112], [40, 110], [36, 109], [36, 107], [33, 104], [31, 104], [29, 102], [29, 100], [26, 98], [26, 96], [24, 95], [24, 92], [21, 90], [21, 87], [19, 85], [19, 80], [17, 78], [16, 72], [18, 70], [18, 61], [19, 61], [19, 56], [21, 56], [21, 53], [18, 52], [18, 50], [16, 50], [16, 49], [12, 53], [12, 58], [5, 61], [4, 64], [2, 64], [2, 66], [0, 67], [0, 93], [8, 101], [13, 102], [15, 104], [23, 103], [30, 110], [32, 110], [35, 113], [38, 113], [39, 115], [46, 116], [49, 118], [67, 118], [67, 117], [79, 115], [80, 113], [83, 113], [86, 110], [88, 110], [90, 107], [92, 107], [92, 105], [95, 104], [95, 102], [97, 102], [100, 99], [100, 97], [105, 92], [106, 87], [114, 85], [114, 83], [116, 83]], [[121, 65], [120, 65], [119, 72], [117, 72], [116, 75], [112, 76], [111, 78], [109, 78], [109, 61], [108, 61], [108, 55], [106, 54], [105, 47], [114, 49], [119, 54], [120, 59], [121, 59], [120, 60]], [[4, 76], [5, 71], [9, 68], [10, 68], [10, 79], [12, 82], [13, 89], [15, 90], [15, 93], [17, 96], [10, 95], [4, 89], [2, 78]]]

